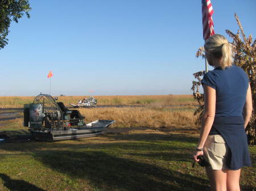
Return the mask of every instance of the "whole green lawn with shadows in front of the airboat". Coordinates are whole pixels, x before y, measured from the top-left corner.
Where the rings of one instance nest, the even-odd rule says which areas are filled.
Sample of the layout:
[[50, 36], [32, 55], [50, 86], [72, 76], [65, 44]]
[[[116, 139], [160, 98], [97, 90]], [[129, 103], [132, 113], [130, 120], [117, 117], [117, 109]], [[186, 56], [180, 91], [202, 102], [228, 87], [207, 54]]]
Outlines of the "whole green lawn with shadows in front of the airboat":
[[[0, 143], [0, 190], [210, 190], [204, 168], [192, 168], [190, 133], [115, 128], [73, 141]], [[256, 187], [255, 148], [242, 190]]]

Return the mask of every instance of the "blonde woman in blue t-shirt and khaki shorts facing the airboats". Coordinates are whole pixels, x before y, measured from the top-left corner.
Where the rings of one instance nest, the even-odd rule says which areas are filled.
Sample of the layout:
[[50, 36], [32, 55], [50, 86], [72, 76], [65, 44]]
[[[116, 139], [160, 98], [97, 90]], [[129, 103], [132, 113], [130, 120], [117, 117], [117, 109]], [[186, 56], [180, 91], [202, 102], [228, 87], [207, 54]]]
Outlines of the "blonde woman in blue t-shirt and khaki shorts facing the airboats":
[[245, 133], [253, 108], [249, 79], [245, 71], [232, 65], [232, 50], [224, 36], [209, 37], [204, 49], [215, 69], [201, 81], [204, 116], [193, 159], [199, 162], [199, 155], [208, 159], [212, 190], [238, 191], [241, 167], [251, 165]]

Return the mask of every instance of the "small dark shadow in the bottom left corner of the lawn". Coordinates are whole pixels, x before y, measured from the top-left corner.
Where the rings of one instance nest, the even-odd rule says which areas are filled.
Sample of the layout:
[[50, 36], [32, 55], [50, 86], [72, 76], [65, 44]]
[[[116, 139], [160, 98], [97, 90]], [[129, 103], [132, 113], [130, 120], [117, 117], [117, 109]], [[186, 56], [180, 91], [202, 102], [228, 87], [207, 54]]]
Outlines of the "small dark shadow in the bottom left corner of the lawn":
[[3, 185], [11, 191], [46, 191], [24, 180], [13, 180], [3, 173], [0, 173], [0, 178], [4, 182]]

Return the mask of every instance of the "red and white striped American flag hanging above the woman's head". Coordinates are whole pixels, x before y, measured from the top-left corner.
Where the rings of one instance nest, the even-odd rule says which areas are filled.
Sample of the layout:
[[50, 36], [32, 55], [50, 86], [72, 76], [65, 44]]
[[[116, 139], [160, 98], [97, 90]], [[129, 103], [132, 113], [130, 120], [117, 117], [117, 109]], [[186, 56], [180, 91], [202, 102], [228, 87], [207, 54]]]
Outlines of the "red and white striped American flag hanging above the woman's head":
[[203, 16], [203, 36], [207, 40], [214, 35], [213, 20], [212, 20], [212, 3], [210, 0], [202, 0], [202, 16]]

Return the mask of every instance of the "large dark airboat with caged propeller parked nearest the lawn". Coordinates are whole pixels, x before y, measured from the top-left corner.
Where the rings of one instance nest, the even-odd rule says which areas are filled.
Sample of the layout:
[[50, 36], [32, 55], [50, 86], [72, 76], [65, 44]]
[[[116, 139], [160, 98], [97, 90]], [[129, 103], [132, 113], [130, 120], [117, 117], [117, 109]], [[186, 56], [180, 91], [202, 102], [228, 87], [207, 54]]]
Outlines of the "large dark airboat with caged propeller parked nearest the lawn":
[[40, 141], [60, 141], [95, 137], [104, 133], [114, 120], [96, 120], [85, 124], [78, 110], [68, 109], [57, 97], [39, 94], [33, 103], [24, 104], [24, 126]]

